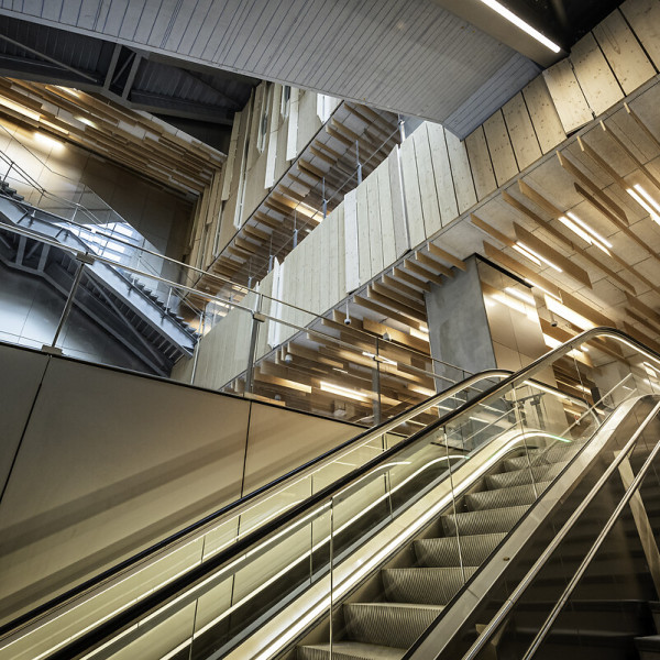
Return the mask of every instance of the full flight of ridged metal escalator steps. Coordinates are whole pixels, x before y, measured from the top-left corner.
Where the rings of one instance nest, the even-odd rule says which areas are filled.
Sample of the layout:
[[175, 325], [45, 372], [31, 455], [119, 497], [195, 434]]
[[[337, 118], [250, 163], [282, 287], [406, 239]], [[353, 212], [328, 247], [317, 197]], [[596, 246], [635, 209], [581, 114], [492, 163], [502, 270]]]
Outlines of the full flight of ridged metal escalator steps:
[[413, 542], [407, 565], [381, 570], [377, 601], [341, 607], [332, 656], [330, 645], [314, 644], [299, 646], [297, 659], [400, 660], [581, 448], [557, 442], [503, 460], [457, 502], [455, 514]]

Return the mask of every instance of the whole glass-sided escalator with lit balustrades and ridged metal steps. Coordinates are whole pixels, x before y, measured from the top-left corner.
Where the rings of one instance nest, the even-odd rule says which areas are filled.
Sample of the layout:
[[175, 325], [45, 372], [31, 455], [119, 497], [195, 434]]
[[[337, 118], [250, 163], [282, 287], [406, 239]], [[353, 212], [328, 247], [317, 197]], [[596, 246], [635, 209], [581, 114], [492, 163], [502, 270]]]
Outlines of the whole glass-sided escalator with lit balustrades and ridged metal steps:
[[587, 619], [622, 607], [628, 657], [657, 600], [656, 514], [638, 502], [654, 484], [637, 483], [656, 476], [657, 376], [660, 358], [594, 329], [476, 396], [457, 386], [418, 432], [396, 432], [415, 414], [392, 420], [13, 622], [0, 658], [522, 657], [622, 494], [632, 522], [622, 507], [610, 559], [588, 565], [596, 584], [625, 569], [625, 605], [607, 590], [565, 603]]

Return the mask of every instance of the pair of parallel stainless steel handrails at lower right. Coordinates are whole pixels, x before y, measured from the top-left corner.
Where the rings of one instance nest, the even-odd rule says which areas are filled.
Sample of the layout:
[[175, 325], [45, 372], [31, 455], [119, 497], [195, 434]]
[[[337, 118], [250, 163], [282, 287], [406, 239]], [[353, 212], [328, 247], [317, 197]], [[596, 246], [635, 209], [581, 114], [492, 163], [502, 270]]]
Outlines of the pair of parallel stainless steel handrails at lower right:
[[[658, 416], [658, 413], [660, 413], [660, 403], [656, 404], [653, 409], [647, 415], [645, 420], [641, 422], [641, 425], [639, 426], [637, 431], [632, 435], [630, 440], [628, 440], [628, 442], [626, 443], [624, 449], [619, 452], [617, 458], [608, 465], [607, 470], [601, 475], [601, 479], [592, 487], [592, 490], [588, 492], [588, 494], [580, 502], [578, 508], [575, 508], [575, 510], [573, 512], [571, 517], [564, 522], [562, 528], [559, 530], [559, 532], [552, 538], [552, 540], [550, 541], [548, 547], [543, 550], [543, 552], [540, 554], [540, 557], [534, 563], [531, 569], [529, 569], [529, 571], [527, 572], [525, 578], [522, 578], [522, 580], [518, 583], [516, 588], [506, 598], [504, 605], [497, 610], [495, 616], [491, 619], [491, 622], [487, 624], [487, 626], [483, 629], [481, 635], [473, 642], [473, 645], [470, 647], [468, 652], [463, 656], [462, 660], [474, 660], [477, 657], [477, 654], [483, 650], [483, 648], [488, 644], [488, 641], [495, 635], [495, 632], [497, 631], [499, 626], [504, 623], [504, 619], [506, 618], [506, 616], [512, 612], [514, 606], [518, 603], [520, 597], [525, 594], [527, 588], [534, 582], [535, 578], [544, 568], [546, 563], [551, 558], [552, 553], [557, 550], [557, 548], [559, 548], [560, 543], [569, 535], [571, 529], [575, 526], [575, 524], [578, 522], [578, 520], [580, 519], [580, 517], [582, 516], [582, 514], [584, 513], [586, 507], [594, 501], [596, 495], [603, 490], [603, 486], [607, 483], [607, 481], [609, 480], [612, 474], [615, 472], [615, 470], [617, 470], [618, 466], [622, 464], [622, 462], [626, 459], [628, 452], [637, 443], [639, 436], [644, 432], [646, 427]], [[646, 471], [648, 470], [648, 466], [650, 465], [649, 461], [658, 453], [658, 451], [660, 451], [660, 442], [658, 442], [656, 444], [656, 447], [653, 448], [653, 452], [649, 457], [649, 460], [647, 460], [647, 462], [645, 463], [645, 465], [642, 468], [644, 474], [646, 474]], [[548, 616], [548, 618], [543, 623], [542, 627], [539, 630], [539, 634], [534, 639], [532, 644], [528, 648], [522, 660], [529, 660], [529, 658], [531, 658], [531, 656], [534, 656], [534, 653], [538, 649], [541, 641], [544, 639], [550, 627], [552, 626], [552, 623], [559, 615], [559, 612], [561, 610], [561, 608], [563, 607], [563, 605], [570, 597], [571, 593], [575, 588], [578, 581], [580, 580], [580, 578], [586, 570], [586, 566], [588, 565], [588, 563], [591, 563], [591, 560], [593, 559], [593, 556], [595, 554], [596, 550], [601, 547], [601, 543], [603, 542], [607, 531], [609, 531], [609, 529], [616, 521], [616, 518], [623, 510], [623, 507], [628, 503], [628, 501], [632, 496], [634, 491], [636, 490], [634, 486], [636, 486], [636, 484], [639, 484], [640, 475], [641, 475], [641, 479], [644, 479], [644, 474], [640, 471], [637, 479], [632, 482], [630, 487], [626, 491], [624, 498], [620, 501], [619, 505], [615, 509], [615, 513], [612, 515], [612, 517], [607, 521], [605, 528], [598, 535], [596, 541], [594, 542], [594, 544], [587, 552], [585, 560], [580, 564], [580, 568], [578, 569], [575, 575], [573, 575], [573, 579], [570, 581], [569, 585], [566, 586], [566, 588], [560, 596], [560, 598], [557, 602], [556, 606], [553, 607], [551, 614]]]

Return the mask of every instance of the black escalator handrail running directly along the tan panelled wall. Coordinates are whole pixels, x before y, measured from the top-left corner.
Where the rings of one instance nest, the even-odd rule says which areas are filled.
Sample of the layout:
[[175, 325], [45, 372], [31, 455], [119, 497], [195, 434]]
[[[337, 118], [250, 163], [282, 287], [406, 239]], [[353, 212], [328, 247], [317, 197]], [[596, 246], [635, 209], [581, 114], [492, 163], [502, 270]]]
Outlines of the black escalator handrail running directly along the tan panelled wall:
[[322, 466], [322, 463], [329, 462], [331, 459], [334, 459], [336, 457], [338, 457], [338, 454], [341, 454], [344, 450], [350, 449], [353, 444], [356, 444], [359, 442], [369, 442], [371, 439], [377, 438], [378, 436], [388, 432], [397, 426], [405, 424], [408, 419], [413, 419], [414, 417], [422, 413], [425, 409], [432, 408], [436, 404], [439, 404], [460, 392], [466, 391], [480, 381], [485, 381], [487, 378], [493, 377], [507, 377], [512, 373], [513, 372], [510, 372], [509, 370], [493, 369], [486, 370], [479, 374], [473, 374], [470, 377], [447, 388], [444, 392], [435, 394], [433, 396], [420, 402], [411, 408], [399, 413], [395, 417], [375, 427], [372, 427], [371, 429], [367, 429], [366, 431], [363, 431], [358, 436], [349, 438], [341, 444], [338, 444], [337, 447], [333, 447], [332, 449], [307, 461], [302, 465], [299, 465], [298, 468], [286, 472], [282, 476], [278, 476], [277, 479], [268, 482], [267, 484], [264, 484], [263, 486], [260, 486], [258, 488], [250, 492], [248, 495], [244, 495], [243, 497], [240, 497], [239, 499], [235, 499], [234, 502], [222, 506], [221, 508], [212, 512], [211, 514], [208, 514], [207, 516], [204, 516], [202, 518], [184, 527], [183, 529], [179, 529], [178, 531], [157, 541], [156, 543], [153, 543], [148, 548], [136, 552], [128, 559], [118, 562], [117, 564], [113, 564], [109, 569], [97, 573], [92, 578], [86, 580], [85, 582], [81, 582], [73, 588], [67, 590], [66, 592], [51, 598], [50, 601], [46, 601], [45, 603], [37, 605], [31, 610], [13, 618], [7, 624], [3, 624], [2, 626], [0, 626], [0, 638], [10, 635], [13, 630], [21, 628], [31, 620], [43, 616], [52, 609], [63, 606], [65, 603], [77, 598], [84, 593], [89, 592], [90, 590], [99, 586], [101, 583], [142, 563], [143, 561], [154, 557], [162, 550], [174, 546], [176, 542], [190, 537], [191, 535], [201, 530], [204, 527], [210, 525], [211, 522], [219, 521], [220, 518], [228, 516], [229, 514], [233, 514], [233, 516], [235, 517], [237, 515], [244, 513], [242, 509], [246, 508], [246, 505], [250, 505], [249, 508], [251, 508], [252, 506], [256, 506], [262, 496], [271, 495], [272, 492], [274, 492], [278, 487], [285, 487], [287, 485], [287, 482], [296, 477], [302, 479], [307, 472], [310, 472], [314, 469], [320, 469]]

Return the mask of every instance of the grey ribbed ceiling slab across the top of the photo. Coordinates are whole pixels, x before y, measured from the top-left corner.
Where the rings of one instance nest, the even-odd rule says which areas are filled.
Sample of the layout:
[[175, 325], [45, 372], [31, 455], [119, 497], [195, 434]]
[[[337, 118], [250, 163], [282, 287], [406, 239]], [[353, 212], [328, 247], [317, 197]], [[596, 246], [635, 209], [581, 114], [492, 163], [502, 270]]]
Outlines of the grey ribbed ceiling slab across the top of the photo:
[[432, 0], [0, 0], [0, 13], [449, 128], [481, 121], [469, 99], [492, 112], [539, 70]]

